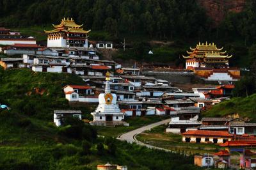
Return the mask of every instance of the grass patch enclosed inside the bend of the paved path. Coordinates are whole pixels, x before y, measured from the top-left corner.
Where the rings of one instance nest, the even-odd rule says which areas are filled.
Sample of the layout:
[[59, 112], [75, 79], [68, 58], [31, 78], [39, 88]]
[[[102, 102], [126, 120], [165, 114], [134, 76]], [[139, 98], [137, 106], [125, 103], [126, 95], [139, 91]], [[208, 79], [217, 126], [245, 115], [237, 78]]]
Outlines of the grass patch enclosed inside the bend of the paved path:
[[187, 154], [215, 153], [221, 147], [215, 144], [182, 143], [182, 135], [165, 132], [166, 126], [152, 128], [136, 136], [143, 143]]

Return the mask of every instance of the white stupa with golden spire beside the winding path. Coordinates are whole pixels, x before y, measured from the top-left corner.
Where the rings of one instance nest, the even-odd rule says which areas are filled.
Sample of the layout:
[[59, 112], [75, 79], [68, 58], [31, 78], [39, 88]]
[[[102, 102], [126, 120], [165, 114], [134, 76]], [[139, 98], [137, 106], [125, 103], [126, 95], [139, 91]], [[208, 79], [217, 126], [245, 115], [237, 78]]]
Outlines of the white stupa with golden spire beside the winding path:
[[99, 95], [99, 105], [97, 109], [92, 112], [93, 121], [91, 125], [109, 126], [115, 125], [129, 126], [124, 121], [124, 113], [120, 111], [118, 104], [116, 104], [116, 94], [111, 93], [109, 80], [110, 73], [106, 73], [106, 88], [105, 93]]

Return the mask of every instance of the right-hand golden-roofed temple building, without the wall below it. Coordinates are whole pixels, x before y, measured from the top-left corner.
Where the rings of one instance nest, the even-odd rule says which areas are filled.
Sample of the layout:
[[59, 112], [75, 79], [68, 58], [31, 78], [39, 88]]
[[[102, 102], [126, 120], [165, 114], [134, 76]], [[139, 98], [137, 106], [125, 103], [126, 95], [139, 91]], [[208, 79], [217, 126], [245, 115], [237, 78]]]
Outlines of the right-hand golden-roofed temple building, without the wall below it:
[[232, 55], [226, 55], [226, 51], [218, 49], [214, 43], [198, 43], [194, 49], [190, 47], [189, 56], [183, 56], [186, 59], [186, 69], [193, 70], [197, 67], [204, 68], [228, 68], [228, 59]]

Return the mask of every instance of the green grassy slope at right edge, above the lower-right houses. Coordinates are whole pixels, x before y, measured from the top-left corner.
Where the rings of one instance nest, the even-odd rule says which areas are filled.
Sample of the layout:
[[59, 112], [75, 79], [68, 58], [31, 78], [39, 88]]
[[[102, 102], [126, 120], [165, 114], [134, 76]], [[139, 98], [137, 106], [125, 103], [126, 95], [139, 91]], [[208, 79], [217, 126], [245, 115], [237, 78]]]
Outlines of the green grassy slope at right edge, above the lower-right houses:
[[209, 111], [203, 112], [202, 117], [219, 117], [238, 113], [242, 118], [250, 118], [256, 122], [256, 94], [246, 98], [232, 98], [215, 105]]

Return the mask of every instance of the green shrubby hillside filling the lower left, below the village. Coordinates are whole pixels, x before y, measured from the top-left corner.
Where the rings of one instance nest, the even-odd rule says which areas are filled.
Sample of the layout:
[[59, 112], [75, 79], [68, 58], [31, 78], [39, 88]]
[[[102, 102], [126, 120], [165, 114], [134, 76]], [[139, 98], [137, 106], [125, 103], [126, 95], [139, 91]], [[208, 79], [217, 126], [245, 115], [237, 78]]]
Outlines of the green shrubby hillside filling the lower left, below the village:
[[0, 169], [96, 169], [107, 162], [135, 170], [198, 169], [192, 157], [100, 138], [96, 128], [76, 119], [56, 127], [54, 109], [81, 109], [83, 118], [94, 109], [68, 106], [62, 88], [84, 84], [76, 75], [1, 69], [0, 77], [0, 103], [11, 107], [0, 110]]

